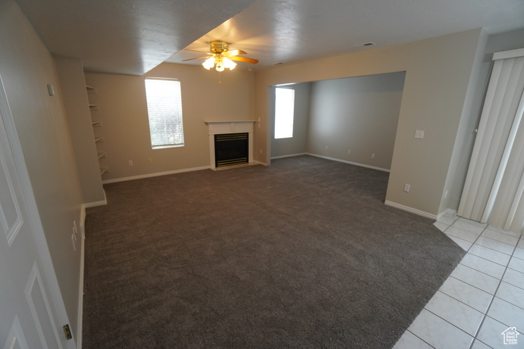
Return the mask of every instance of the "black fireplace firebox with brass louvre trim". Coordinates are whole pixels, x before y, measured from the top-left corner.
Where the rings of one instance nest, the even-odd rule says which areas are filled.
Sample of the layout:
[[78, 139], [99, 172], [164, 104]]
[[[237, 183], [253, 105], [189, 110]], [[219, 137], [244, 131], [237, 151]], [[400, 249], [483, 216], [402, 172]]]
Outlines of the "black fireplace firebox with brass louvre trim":
[[248, 133], [215, 134], [215, 167], [245, 164], [248, 160]]

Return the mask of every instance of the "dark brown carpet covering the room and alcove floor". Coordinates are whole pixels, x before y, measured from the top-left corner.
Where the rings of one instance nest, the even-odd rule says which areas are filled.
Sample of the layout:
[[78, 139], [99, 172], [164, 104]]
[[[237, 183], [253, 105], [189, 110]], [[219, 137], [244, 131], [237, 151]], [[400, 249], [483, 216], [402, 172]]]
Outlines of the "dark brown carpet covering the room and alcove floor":
[[83, 347], [392, 347], [465, 252], [387, 183], [297, 156], [106, 185]]

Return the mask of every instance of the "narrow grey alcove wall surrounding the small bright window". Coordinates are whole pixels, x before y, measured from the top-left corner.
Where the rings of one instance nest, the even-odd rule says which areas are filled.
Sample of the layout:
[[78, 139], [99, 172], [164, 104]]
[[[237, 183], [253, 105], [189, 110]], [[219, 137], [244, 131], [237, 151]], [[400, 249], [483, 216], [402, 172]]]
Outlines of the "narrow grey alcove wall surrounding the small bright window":
[[[275, 128], [271, 128], [271, 157], [302, 154], [306, 152], [308, 137], [308, 119], [310, 104], [310, 83], [294, 84], [294, 116], [293, 116], [293, 137], [275, 139]], [[272, 93], [269, 98], [271, 104], [275, 105], [275, 88], [271, 88]], [[269, 110], [271, 118], [275, 118], [275, 110]]]

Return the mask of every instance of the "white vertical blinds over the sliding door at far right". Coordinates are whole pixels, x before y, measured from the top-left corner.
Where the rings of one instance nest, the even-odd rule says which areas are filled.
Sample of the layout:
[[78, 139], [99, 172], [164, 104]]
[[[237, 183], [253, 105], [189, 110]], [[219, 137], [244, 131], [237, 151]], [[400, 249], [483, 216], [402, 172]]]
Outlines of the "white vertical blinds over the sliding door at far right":
[[457, 214], [524, 228], [524, 57], [496, 60]]

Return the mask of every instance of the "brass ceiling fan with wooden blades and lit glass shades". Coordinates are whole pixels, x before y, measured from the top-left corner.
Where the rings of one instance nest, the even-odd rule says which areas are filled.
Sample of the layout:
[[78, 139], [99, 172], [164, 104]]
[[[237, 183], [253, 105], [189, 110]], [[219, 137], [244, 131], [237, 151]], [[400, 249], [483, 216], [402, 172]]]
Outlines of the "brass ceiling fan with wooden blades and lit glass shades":
[[[191, 58], [191, 59], [185, 59], [182, 62], [185, 61], [192, 61], [194, 59], [202, 59], [207, 58], [202, 65], [205, 69], [210, 70], [216, 63], [216, 70], [219, 72], [222, 72], [225, 68], [229, 68], [230, 70], [233, 70], [233, 68], [236, 66], [236, 63], [233, 61], [239, 61], [239, 62], [247, 62], [247, 63], [258, 63], [258, 60], [252, 59], [252, 58], [246, 58], [246, 57], [238, 57], [239, 54], [246, 54], [246, 52], [242, 50], [229, 50], [229, 43], [225, 41], [211, 41], [209, 43], [209, 48], [211, 52], [202, 52], [202, 51], [195, 51], [195, 50], [188, 50], [188, 51], [195, 51], [195, 52], [202, 52], [208, 54], [206, 57], [198, 57], [198, 58]], [[211, 57], [209, 57], [211, 56]]]

